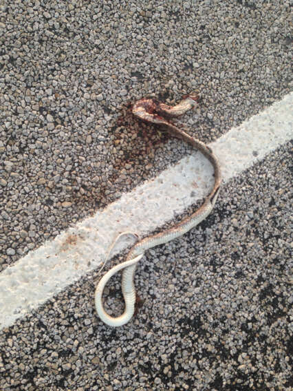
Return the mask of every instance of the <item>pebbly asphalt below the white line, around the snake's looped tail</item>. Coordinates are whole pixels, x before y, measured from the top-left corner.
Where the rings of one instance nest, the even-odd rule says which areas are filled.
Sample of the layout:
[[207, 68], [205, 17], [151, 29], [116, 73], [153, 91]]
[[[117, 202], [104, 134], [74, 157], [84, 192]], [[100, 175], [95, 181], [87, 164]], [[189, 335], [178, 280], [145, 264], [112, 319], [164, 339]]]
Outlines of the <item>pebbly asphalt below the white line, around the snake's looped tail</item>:
[[[290, 147], [226, 184], [196, 229], [146, 253], [126, 326], [96, 317], [96, 271], [1, 330], [0, 389], [292, 390]], [[117, 315], [117, 276], [105, 296]]]

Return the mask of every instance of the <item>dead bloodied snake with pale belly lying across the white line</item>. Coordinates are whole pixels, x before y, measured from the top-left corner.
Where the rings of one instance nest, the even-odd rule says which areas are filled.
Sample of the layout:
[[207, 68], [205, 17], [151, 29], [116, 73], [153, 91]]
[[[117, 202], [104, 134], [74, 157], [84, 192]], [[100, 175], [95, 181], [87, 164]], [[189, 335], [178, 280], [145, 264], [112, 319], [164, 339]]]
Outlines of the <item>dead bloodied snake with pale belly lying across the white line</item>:
[[[121, 264], [113, 266], [113, 268], [111, 268], [100, 279], [95, 291], [96, 312], [100, 319], [108, 326], [123, 326], [130, 321], [135, 313], [136, 293], [134, 276], [138, 262], [142, 259], [145, 251], [184, 235], [186, 232], [197, 226], [197, 224], [202, 222], [215, 207], [221, 184], [221, 170], [217, 157], [213, 154], [213, 150], [208, 147], [208, 145], [205, 145], [204, 142], [197, 140], [197, 138], [193, 138], [187, 134], [186, 131], [180, 129], [171, 122], [171, 118], [179, 117], [186, 113], [189, 109], [196, 107], [199, 104], [199, 98], [199, 92], [191, 92], [191, 94], [183, 96], [182, 101], [175, 106], [169, 106], [158, 101], [156, 98], [147, 97], [136, 101], [132, 105], [132, 113], [135, 117], [140, 118], [140, 120], [146, 123], [152, 123], [160, 126], [161, 129], [167, 131], [171, 136], [184, 140], [193, 148], [199, 150], [213, 165], [214, 184], [213, 189], [206, 196], [201, 207], [199, 207], [191, 215], [188, 215], [178, 224], [175, 224], [175, 226], [171, 229], [167, 229], [166, 231], [154, 235], [149, 235], [135, 243], [131, 247], [127, 255], [127, 259]], [[122, 295], [124, 298], [124, 312], [118, 317], [112, 317], [103, 307], [102, 293], [109, 279], [119, 271], [122, 271], [121, 284]]]

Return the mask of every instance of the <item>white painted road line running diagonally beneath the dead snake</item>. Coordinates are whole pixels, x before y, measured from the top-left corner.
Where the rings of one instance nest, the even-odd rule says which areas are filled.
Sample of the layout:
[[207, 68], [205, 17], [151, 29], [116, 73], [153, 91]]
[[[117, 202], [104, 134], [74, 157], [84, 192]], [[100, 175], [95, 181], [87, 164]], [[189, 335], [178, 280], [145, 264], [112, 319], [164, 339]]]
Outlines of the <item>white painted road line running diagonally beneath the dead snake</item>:
[[[219, 158], [225, 182], [292, 138], [292, 101], [293, 93], [286, 95], [210, 145]], [[146, 235], [202, 199], [212, 185], [212, 166], [195, 152], [28, 253], [0, 274], [0, 328], [12, 325], [97, 268], [119, 233]], [[116, 253], [128, 244], [120, 242]]]

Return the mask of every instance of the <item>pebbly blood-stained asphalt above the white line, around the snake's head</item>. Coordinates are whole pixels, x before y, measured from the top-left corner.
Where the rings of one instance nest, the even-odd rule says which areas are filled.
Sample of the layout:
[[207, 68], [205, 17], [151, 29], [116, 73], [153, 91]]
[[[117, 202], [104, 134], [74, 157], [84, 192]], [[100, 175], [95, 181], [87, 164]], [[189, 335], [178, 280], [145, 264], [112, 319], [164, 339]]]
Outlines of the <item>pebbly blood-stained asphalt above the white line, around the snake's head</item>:
[[188, 153], [129, 103], [202, 103], [204, 142], [290, 92], [290, 1], [2, 1], [0, 270]]

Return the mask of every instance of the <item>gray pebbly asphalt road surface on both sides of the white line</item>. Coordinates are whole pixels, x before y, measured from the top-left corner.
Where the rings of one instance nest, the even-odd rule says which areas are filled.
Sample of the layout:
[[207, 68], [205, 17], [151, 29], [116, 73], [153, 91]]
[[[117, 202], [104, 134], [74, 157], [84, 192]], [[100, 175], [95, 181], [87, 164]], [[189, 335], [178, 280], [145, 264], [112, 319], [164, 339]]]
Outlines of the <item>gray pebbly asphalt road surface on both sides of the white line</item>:
[[[135, 123], [129, 102], [199, 89], [183, 122], [207, 142], [290, 92], [289, 6], [4, 3], [1, 268], [188, 152]], [[291, 390], [291, 148], [146, 254], [127, 326], [96, 317], [96, 273], [2, 330], [0, 390]], [[119, 289], [117, 277], [106, 291], [114, 313]]]

